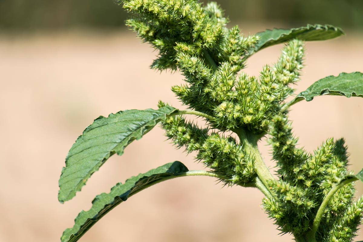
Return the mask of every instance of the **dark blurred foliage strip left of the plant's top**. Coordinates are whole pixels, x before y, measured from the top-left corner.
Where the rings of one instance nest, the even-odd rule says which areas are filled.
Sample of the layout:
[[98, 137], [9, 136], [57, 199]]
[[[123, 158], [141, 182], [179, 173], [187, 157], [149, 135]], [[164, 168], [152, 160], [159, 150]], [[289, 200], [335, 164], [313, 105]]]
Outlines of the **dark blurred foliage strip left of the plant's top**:
[[0, 0], [0, 28], [14, 30], [124, 26], [113, 0]]

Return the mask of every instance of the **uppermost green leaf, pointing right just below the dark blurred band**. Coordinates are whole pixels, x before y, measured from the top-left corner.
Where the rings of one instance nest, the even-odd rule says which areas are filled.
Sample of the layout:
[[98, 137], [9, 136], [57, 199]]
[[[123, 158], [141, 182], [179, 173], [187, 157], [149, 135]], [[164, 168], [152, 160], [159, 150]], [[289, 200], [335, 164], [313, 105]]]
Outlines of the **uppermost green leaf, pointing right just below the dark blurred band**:
[[329, 40], [343, 35], [342, 29], [333, 25], [308, 24], [306, 27], [293, 29], [273, 29], [259, 32], [256, 35], [260, 37], [255, 45], [254, 52], [264, 49], [271, 45], [281, 44], [283, 42], [297, 38], [304, 41]]

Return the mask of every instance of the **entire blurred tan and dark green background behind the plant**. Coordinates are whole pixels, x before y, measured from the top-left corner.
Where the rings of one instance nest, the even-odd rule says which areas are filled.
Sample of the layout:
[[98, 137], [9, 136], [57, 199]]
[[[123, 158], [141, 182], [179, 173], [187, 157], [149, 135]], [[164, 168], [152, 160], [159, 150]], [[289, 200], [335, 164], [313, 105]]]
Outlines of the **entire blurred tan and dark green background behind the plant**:
[[[346, 36], [306, 43], [306, 67], [297, 93], [327, 75], [363, 72], [362, 0], [219, 1], [231, 23], [253, 34], [266, 28], [333, 24]], [[204, 169], [154, 128], [113, 156], [73, 200], [57, 201], [65, 156], [99, 115], [180, 107], [170, 91], [178, 73], [148, 66], [157, 55], [124, 27], [128, 15], [112, 0], [0, 0], [0, 241], [60, 241], [93, 198], [117, 182], [180, 160]], [[246, 72], [272, 65], [282, 45], [251, 57]], [[184, 107], [185, 108], [185, 107]], [[193, 117], [190, 117], [191, 119]], [[312, 152], [327, 138], [346, 139], [350, 168], [363, 167], [363, 99], [317, 97], [291, 108], [294, 133]], [[203, 125], [203, 121], [197, 121]], [[262, 156], [273, 170], [263, 140]], [[358, 185], [357, 196], [363, 193]], [[223, 187], [211, 177], [158, 184], [115, 208], [80, 241], [291, 241], [261, 209], [258, 190]], [[359, 232], [357, 240], [362, 240]]]

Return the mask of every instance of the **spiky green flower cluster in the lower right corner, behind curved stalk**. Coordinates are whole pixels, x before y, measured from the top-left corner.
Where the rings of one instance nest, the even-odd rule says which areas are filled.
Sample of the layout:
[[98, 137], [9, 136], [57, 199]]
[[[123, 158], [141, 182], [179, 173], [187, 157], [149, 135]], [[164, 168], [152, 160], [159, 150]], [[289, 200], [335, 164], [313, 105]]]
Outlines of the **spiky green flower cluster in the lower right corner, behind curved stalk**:
[[[270, 180], [272, 198], [263, 204], [284, 233], [304, 236], [327, 193], [348, 174], [344, 140], [328, 139], [313, 155], [297, 148], [285, 115], [275, 116], [270, 132], [280, 180]], [[352, 201], [352, 183], [334, 194], [319, 226], [317, 241], [351, 241], [362, 218], [363, 200]]]

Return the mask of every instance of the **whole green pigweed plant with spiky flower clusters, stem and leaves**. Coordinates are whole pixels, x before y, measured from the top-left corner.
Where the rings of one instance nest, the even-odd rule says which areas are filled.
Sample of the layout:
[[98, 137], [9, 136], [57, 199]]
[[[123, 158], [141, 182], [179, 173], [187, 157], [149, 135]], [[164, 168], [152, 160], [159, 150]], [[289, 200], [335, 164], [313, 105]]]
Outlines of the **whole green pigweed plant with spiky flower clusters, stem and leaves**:
[[[293, 95], [291, 85], [303, 68], [303, 41], [327, 40], [343, 34], [331, 25], [273, 29], [244, 36], [216, 3], [196, 0], [120, 1], [132, 14], [127, 26], [159, 50], [151, 68], [177, 70], [185, 83], [172, 91], [186, 106], [178, 110], [160, 101], [158, 109], [125, 110], [100, 116], [83, 131], [66, 157], [59, 180], [60, 202], [81, 190], [93, 172], [113, 154], [161, 123], [166, 136], [209, 171], [189, 171], [175, 161], [118, 183], [98, 195], [87, 212], [79, 213], [62, 242], [78, 239], [107, 212], [133, 194], [156, 183], [184, 176], [212, 176], [225, 185], [254, 187], [265, 195], [262, 206], [281, 233], [298, 242], [346, 242], [355, 237], [362, 219], [363, 198], [354, 200], [354, 184], [363, 180], [348, 171], [343, 139], [328, 139], [314, 153], [297, 147], [289, 121], [289, 108], [319, 95], [363, 96], [363, 74], [341, 73], [318, 80]], [[250, 56], [285, 42], [274, 66], [263, 66], [258, 77], [241, 71]], [[207, 122], [200, 128], [185, 115]], [[226, 135], [231, 131], [238, 140]], [[229, 133], [231, 133], [229, 132]], [[228, 133], [228, 134], [229, 134]], [[267, 136], [277, 178], [266, 167], [257, 142]]]

